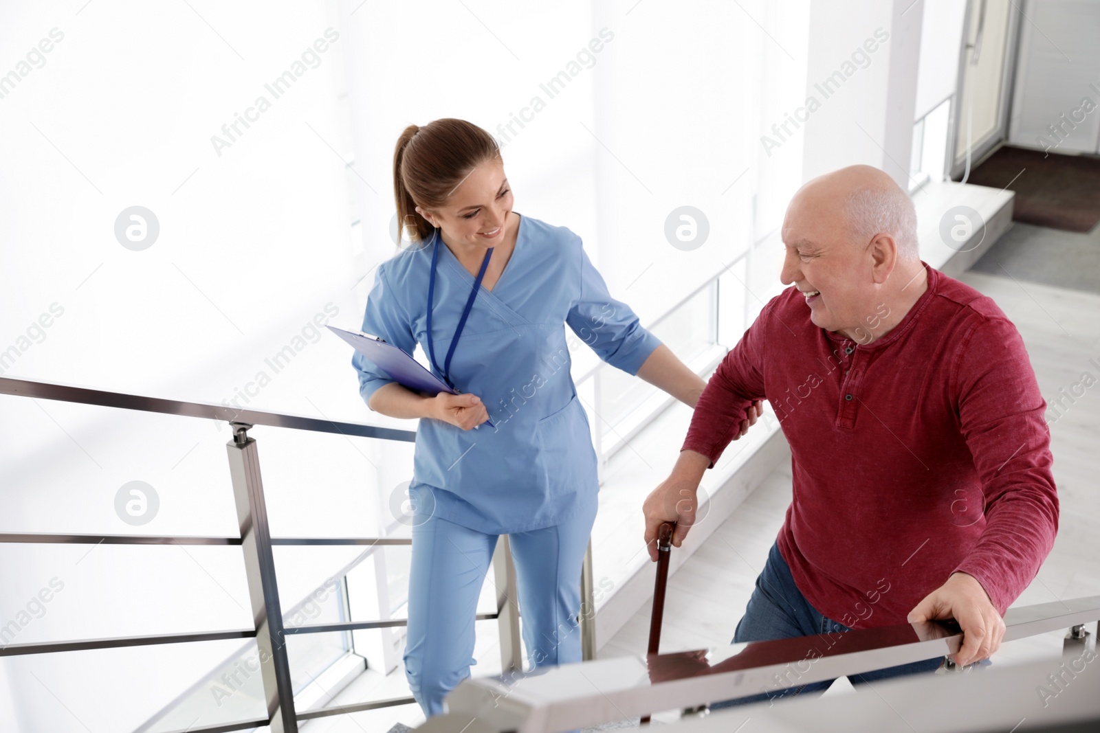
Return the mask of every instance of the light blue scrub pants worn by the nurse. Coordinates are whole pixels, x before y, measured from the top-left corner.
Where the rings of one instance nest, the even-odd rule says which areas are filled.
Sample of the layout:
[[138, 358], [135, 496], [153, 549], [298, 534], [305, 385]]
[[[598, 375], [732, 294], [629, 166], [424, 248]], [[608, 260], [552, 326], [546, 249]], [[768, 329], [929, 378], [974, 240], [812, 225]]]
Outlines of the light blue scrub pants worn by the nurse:
[[[596, 503], [593, 492], [561, 524], [508, 535], [534, 667], [581, 662], [581, 566]], [[429, 718], [443, 712], [443, 697], [476, 664], [474, 617], [497, 536], [435, 515], [413, 527], [405, 676]]]

